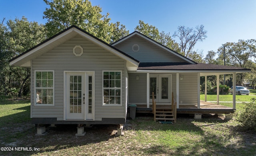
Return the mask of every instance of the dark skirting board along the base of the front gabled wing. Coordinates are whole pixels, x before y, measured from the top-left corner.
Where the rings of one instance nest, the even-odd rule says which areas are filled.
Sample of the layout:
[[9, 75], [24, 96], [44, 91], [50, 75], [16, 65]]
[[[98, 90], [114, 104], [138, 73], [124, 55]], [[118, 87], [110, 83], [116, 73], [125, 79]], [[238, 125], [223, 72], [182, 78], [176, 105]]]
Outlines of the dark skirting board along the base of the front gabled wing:
[[101, 121], [57, 120], [57, 118], [32, 118], [32, 124], [124, 124], [125, 118], [102, 118]]

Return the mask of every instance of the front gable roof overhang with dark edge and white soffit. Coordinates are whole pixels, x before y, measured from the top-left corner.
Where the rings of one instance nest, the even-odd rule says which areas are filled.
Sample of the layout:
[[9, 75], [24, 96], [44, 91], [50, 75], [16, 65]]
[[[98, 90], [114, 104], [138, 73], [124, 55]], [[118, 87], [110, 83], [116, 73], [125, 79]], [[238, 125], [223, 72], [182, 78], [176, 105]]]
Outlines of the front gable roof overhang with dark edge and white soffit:
[[77, 26], [70, 26], [69, 28], [63, 30], [62, 32], [52, 36], [49, 39], [46, 39], [42, 43], [32, 47], [31, 49], [28, 49], [24, 53], [21, 53], [20, 55], [14, 57], [11, 59], [10, 65], [17, 65], [17, 66], [23, 66], [23, 67], [30, 67], [30, 60], [34, 59], [43, 53], [46, 53], [47, 51], [53, 49], [54, 47], [64, 43], [65, 41], [73, 38], [76, 35], [80, 35], [86, 39], [89, 39], [96, 45], [99, 45], [100, 47], [110, 51], [111, 53], [114, 53], [115, 55], [121, 57], [122, 59], [125, 59], [126, 61], [132, 63], [132, 65], [135, 65], [138, 67], [139, 61], [135, 58], [131, 57], [130, 55], [127, 55], [126, 53], [120, 51], [119, 49], [116, 49], [112, 45], [102, 41], [101, 39], [98, 39], [97, 37], [93, 36], [92, 34], [78, 28]]

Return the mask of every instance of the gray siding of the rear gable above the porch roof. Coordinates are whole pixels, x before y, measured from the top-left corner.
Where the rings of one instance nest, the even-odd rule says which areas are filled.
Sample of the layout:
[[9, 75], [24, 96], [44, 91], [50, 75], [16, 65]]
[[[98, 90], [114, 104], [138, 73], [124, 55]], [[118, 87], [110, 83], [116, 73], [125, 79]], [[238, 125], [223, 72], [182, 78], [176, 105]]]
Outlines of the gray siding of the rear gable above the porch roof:
[[[140, 49], [138, 52], [132, 50], [134, 44], [139, 45]], [[180, 57], [138, 36], [133, 36], [125, 42], [115, 45], [115, 47], [140, 62], [184, 62]]]

